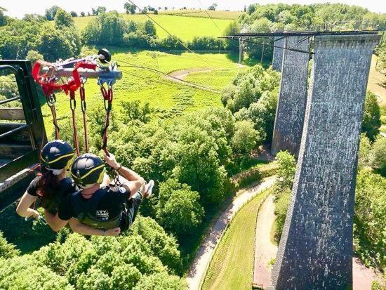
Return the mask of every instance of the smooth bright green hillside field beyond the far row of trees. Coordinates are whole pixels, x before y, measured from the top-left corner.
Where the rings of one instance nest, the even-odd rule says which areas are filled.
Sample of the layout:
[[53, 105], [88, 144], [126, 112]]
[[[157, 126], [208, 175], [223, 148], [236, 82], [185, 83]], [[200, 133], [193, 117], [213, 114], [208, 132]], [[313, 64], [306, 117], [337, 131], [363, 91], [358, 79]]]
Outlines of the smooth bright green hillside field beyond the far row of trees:
[[[135, 22], [145, 22], [149, 20], [146, 15], [143, 14], [122, 14], [124, 18], [128, 20], [133, 20]], [[213, 24], [211, 19], [208, 18], [198, 18], [198, 17], [181, 17], [176, 15], [150, 15], [155, 21], [157, 21], [162, 27], [168, 30], [171, 34], [174, 34], [183, 41], [192, 41], [193, 37], [220, 37], [225, 27], [232, 22], [232, 20], [227, 19], [214, 19], [215, 24], [220, 28], [218, 31], [217, 27]], [[95, 18], [95, 16], [85, 16], [85, 17], [76, 17], [74, 18], [75, 25], [79, 29], [84, 29], [87, 23]], [[168, 34], [157, 27], [157, 35], [159, 38], [167, 37]]]

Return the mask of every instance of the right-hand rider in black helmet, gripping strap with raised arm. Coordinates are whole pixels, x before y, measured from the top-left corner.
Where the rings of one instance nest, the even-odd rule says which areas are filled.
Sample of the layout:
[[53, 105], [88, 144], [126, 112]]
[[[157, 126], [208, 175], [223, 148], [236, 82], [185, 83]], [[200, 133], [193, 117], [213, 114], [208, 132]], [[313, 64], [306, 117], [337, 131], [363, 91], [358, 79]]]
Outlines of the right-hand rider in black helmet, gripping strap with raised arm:
[[142, 199], [152, 193], [154, 181], [145, 180], [131, 169], [119, 164], [114, 155], [105, 154], [105, 161], [118, 171], [121, 185], [101, 187], [105, 164], [94, 154], [82, 154], [72, 164], [71, 175], [81, 190], [68, 195], [60, 204], [55, 217], [55, 230], [60, 230], [71, 218], [76, 219], [71, 228], [75, 232], [81, 225], [95, 229], [95, 235], [105, 235], [107, 230], [117, 233], [127, 230], [134, 222]]

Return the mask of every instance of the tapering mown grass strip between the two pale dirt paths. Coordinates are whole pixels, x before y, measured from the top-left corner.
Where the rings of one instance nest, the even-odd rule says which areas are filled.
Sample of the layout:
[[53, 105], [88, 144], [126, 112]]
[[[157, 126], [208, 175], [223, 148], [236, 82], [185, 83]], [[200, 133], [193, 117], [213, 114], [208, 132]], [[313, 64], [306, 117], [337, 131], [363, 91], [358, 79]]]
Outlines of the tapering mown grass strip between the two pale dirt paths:
[[202, 289], [251, 289], [256, 216], [266, 195], [262, 192], [234, 217], [215, 251]]

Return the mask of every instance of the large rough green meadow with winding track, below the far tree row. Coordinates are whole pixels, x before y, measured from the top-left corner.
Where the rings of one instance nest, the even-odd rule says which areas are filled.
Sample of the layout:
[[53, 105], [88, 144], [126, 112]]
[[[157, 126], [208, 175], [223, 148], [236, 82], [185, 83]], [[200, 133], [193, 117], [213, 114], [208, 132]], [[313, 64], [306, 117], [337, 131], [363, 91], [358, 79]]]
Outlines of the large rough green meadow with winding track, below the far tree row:
[[[119, 104], [121, 101], [140, 100], [142, 103], [149, 103], [150, 107], [156, 109], [156, 117], [172, 117], [173, 115], [192, 112], [203, 107], [221, 106], [220, 93], [204, 91], [199, 88], [192, 88], [185, 84], [178, 84], [174, 81], [164, 79], [159, 74], [141, 70], [135, 67], [127, 67], [128, 62], [144, 67], [153, 67], [162, 72], [170, 73], [176, 70], [205, 69], [208, 62], [213, 72], [197, 74], [189, 81], [204, 84], [208, 87], [220, 90], [232, 81], [237, 73], [237, 64], [227, 54], [204, 53], [199, 59], [193, 53], [162, 53], [155, 51], [124, 52], [112, 49], [113, 60], [117, 60], [123, 71], [123, 79], [114, 85], [114, 112], [121, 113]], [[121, 62], [124, 61], [124, 62]], [[218, 70], [221, 69], [221, 70]], [[135, 74], [133, 76], [132, 74]], [[215, 81], [214, 81], [215, 80]], [[154, 82], [158, 81], [158, 82]], [[102, 95], [95, 79], [88, 79], [86, 83], [86, 100], [88, 110], [103, 110]], [[69, 98], [64, 93], [57, 94], [58, 119], [68, 119]], [[79, 106], [77, 114], [81, 114]], [[44, 117], [51, 122], [51, 112], [48, 106], [43, 107]], [[47, 123], [46, 123], [47, 124]], [[53, 131], [51, 124], [46, 126], [48, 136]]]

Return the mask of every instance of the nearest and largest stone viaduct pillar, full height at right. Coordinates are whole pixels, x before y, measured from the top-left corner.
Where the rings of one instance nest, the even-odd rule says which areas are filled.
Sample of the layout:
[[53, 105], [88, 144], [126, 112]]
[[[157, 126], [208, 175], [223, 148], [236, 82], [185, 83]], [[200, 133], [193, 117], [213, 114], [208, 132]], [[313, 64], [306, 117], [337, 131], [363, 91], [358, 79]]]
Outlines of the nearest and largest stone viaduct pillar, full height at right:
[[351, 289], [359, 133], [379, 36], [317, 36], [275, 289]]

